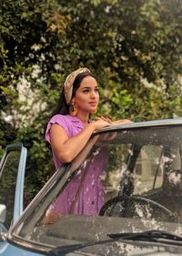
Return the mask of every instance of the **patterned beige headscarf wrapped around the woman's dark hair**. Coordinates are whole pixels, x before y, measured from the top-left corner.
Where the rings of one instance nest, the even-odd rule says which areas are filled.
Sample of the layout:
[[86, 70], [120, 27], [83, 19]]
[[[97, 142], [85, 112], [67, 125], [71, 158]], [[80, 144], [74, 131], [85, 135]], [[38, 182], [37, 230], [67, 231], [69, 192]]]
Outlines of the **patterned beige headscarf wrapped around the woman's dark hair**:
[[83, 73], [83, 72], [90, 73], [90, 70], [87, 68], [76, 69], [75, 71], [73, 71], [71, 74], [69, 74], [66, 77], [66, 81], [64, 83], [64, 89], [65, 89], [65, 98], [66, 98], [67, 104], [69, 104], [71, 102], [74, 80], [76, 79], [76, 76], [78, 74]]

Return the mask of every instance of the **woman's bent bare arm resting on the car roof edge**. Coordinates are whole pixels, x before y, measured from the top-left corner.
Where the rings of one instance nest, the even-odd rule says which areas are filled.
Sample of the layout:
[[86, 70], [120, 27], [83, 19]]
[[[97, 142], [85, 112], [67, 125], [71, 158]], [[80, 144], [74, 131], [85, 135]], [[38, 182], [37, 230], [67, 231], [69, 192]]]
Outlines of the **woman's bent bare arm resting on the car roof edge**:
[[68, 138], [66, 130], [55, 123], [50, 129], [51, 147], [62, 163], [69, 163], [83, 149], [91, 134], [94, 133], [96, 129], [109, 125], [110, 123], [99, 119], [96, 122], [88, 123], [80, 133]]

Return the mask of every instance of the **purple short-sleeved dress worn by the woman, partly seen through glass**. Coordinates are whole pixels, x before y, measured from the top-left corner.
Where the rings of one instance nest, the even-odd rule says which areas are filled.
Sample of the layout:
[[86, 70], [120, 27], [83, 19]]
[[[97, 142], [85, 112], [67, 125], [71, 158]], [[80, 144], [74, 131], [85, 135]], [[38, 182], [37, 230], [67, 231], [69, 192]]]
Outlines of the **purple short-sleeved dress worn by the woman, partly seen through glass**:
[[[47, 124], [45, 140], [49, 143], [49, 132], [53, 123], [57, 123], [63, 127], [69, 138], [79, 133], [85, 127], [84, 124], [76, 117], [57, 114], [52, 117]], [[62, 165], [62, 163], [58, 160], [58, 157], [54, 152], [53, 157], [57, 169]], [[98, 214], [105, 201], [102, 174], [106, 162], [107, 152], [103, 149], [97, 149], [97, 152], [91, 158], [91, 161], [86, 163], [84, 172], [81, 172], [81, 174], [78, 173], [74, 176], [60, 196], [56, 198], [56, 201], [52, 203], [49, 211], [63, 215], [70, 213], [86, 215]], [[84, 181], [82, 181], [82, 178]], [[76, 194], [78, 195], [77, 197]], [[76, 204], [73, 207], [75, 197]]]

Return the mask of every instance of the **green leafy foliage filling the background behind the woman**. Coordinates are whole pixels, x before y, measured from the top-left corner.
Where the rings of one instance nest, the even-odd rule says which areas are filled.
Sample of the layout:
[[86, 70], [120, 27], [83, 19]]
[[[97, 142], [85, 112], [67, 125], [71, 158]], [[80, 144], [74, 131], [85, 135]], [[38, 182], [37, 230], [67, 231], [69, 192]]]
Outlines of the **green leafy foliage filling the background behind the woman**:
[[98, 115], [133, 121], [181, 115], [181, 1], [0, 5], [0, 155], [15, 141], [28, 147], [27, 198], [50, 174], [44, 128], [70, 71], [86, 66], [96, 74]]

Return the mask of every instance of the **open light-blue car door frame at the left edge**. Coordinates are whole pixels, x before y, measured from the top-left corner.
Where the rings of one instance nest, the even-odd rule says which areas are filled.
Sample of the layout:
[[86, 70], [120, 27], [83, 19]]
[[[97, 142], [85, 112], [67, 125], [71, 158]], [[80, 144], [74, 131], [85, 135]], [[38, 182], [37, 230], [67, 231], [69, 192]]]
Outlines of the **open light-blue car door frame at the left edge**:
[[26, 155], [23, 144], [10, 144], [0, 162], [0, 224], [3, 231], [7, 231], [23, 212]]

